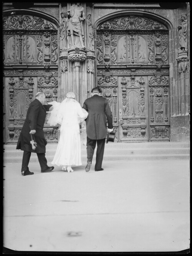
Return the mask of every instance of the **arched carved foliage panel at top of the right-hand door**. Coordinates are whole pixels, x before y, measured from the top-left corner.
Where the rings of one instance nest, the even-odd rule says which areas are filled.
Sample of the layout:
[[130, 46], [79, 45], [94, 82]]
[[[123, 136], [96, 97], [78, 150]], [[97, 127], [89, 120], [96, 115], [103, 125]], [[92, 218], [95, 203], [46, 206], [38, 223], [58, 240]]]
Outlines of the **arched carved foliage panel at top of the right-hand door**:
[[136, 15], [126, 15], [124, 17], [113, 18], [99, 25], [99, 29], [168, 29], [161, 22], [140, 17]]

